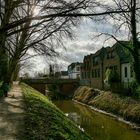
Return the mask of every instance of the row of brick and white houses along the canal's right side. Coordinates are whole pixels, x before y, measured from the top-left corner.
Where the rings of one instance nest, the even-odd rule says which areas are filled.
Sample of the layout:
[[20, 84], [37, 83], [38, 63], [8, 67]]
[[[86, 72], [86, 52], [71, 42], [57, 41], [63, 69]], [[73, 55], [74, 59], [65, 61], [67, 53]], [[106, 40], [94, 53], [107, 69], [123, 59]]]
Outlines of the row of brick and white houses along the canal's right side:
[[130, 43], [120, 41], [112, 47], [102, 47], [96, 53], [84, 56], [82, 63], [70, 64], [68, 77], [71, 79], [79, 78], [82, 84], [94, 88], [104, 88], [108, 81], [107, 70], [111, 70], [114, 74], [114, 82], [128, 85], [134, 80], [131, 67], [133, 60], [123, 45], [129, 46]]

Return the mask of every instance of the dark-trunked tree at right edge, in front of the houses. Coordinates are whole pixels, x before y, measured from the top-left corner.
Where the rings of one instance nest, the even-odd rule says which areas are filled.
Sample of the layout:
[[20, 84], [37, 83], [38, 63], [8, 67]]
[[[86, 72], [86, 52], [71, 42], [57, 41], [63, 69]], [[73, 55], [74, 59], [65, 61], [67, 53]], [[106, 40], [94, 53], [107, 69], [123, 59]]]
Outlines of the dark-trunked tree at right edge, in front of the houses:
[[[140, 32], [138, 26], [140, 25], [140, 1], [139, 0], [112, 0], [114, 7], [106, 7], [110, 11], [129, 11], [121, 12], [119, 14], [110, 13], [109, 17], [114, 21], [116, 30], [114, 34], [101, 33], [109, 35], [111, 38], [115, 39], [122, 47], [126, 48], [133, 58], [133, 70], [135, 73], [135, 79], [138, 84], [140, 84]], [[120, 41], [115, 33], [121, 30], [127, 30], [125, 36], [128, 37], [128, 43]], [[109, 37], [109, 38], [110, 38]]]

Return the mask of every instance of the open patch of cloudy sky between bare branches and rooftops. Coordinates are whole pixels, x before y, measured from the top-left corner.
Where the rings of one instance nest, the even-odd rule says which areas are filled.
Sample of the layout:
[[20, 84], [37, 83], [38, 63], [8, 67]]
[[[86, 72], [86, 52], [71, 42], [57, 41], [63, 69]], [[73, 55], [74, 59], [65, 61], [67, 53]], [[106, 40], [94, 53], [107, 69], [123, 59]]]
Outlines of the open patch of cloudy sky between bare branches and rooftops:
[[[74, 30], [76, 35], [75, 39], [64, 40], [66, 50], [64, 48], [58, 48], [60, 57], [51, 60], [48, 58], [35, 57], [29, 60], [32, 65], [32, 71], [29, 67], [23, 71], [31, 75], [36, 72], [48, 72], [50, 64], [57, 64], [60, 70], [67, 70], [68, 65], [71, 63], [83, 62], [84, 56], [95, 53], [101, 47], [112, 46], [115, 40], [110, 39], [105, 42], [105, 36], [97, 37], [96, 35], [99, 32], [112, 34], [112, 32], [114, 32], [113, 29], [113, 22], [95, 23], [90, 19], [83, 19], [81, 24]], [[125, 31], [123, 34], [124, 33]], [[118, 39], [123, 38], [119, 36]]]

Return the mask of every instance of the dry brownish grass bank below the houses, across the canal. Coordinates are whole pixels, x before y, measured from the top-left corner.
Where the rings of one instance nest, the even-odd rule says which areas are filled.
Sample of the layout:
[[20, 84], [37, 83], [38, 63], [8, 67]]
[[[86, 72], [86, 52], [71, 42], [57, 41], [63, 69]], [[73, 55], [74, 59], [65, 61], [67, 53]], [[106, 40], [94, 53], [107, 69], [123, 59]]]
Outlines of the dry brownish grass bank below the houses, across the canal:
[[73, 97], [75, 100], [98, 109], [119, 115], [140, 125], [140, 101], [121, 96], [109, 91], [99, 91], [83, 86], [79, 87]]

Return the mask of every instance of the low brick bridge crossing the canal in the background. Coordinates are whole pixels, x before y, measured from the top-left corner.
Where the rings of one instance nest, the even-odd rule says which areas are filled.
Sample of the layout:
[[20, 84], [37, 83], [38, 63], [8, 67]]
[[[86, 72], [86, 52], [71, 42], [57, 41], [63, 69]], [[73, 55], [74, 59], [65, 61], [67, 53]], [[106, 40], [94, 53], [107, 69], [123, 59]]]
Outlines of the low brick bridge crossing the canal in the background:
[[72, 96], [79, 86], [79, 79], [57, 79], [57, 78], [27, 78], [22, 82], [30, 85], [43, 94], [47, 91], [59, 92], [65, 96]]

